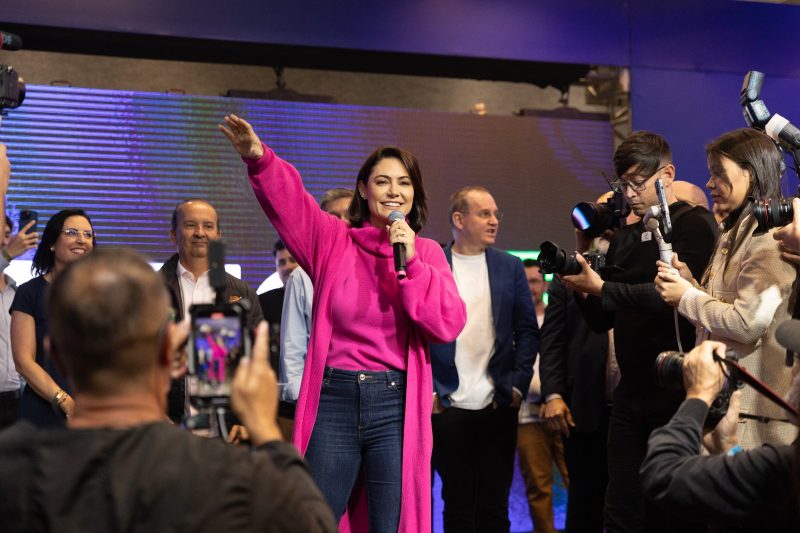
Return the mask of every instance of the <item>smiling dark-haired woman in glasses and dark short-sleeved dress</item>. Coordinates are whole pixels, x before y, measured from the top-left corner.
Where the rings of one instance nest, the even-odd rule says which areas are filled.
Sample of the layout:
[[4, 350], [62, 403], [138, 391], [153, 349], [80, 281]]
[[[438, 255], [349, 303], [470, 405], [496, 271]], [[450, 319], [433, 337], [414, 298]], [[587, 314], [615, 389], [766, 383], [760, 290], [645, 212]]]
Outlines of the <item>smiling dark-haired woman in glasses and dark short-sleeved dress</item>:
[[27, 383], [20, 418], [38, 426], [63, 425], [74, 405], [67, 380], [44, 347], [49, 331], [47, 290], [59, 272], [90, 254], [95, 244], [92, 221], [82, 209], [53, 215], [33, 257], [37, 277], [19, 286], [11, 304], [11, 351], [17, 372]]

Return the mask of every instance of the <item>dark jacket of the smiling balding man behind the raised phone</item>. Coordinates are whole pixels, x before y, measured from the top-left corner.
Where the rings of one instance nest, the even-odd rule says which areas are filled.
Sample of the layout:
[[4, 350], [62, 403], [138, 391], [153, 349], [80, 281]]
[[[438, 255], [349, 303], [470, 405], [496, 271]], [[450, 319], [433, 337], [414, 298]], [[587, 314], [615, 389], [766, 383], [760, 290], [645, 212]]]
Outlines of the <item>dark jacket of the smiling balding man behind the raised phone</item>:
[[[178, 280], [178, 254], [170, 257], [161, 267], [161, 275], [169, 291], [172, 308], [175, 310], [175, 320], [183, 320], [183, 294], [181, 284]], [[248, 300], [250, 308], [245, 315], [245, 326], [252, 330], [264, 319], [261, 313], [261, 305], [258, 302], [256, 291], [250, 285], [240, 279], [236, 279], [230, 274], [225, 274], [225, 302], [233, 303], [242, 299]], [[180, 422], [183, 418], [184, 401], [186, 398], [186, 380], [172, 380], [167, 397], [167, 414], [173, 422]]]

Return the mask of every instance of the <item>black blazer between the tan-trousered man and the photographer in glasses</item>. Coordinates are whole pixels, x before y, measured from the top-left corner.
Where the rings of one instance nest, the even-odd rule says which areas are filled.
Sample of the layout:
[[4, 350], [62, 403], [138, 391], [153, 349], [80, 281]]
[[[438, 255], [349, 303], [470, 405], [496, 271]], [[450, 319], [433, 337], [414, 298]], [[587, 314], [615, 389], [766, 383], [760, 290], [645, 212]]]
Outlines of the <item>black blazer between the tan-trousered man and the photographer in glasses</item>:
[[575, 430], [600, 427], [605, 409], [608, 333], [595, 333], [583, 318], [575, 291], [554, 278], [539, 343], [542, 398], [560, 394]]

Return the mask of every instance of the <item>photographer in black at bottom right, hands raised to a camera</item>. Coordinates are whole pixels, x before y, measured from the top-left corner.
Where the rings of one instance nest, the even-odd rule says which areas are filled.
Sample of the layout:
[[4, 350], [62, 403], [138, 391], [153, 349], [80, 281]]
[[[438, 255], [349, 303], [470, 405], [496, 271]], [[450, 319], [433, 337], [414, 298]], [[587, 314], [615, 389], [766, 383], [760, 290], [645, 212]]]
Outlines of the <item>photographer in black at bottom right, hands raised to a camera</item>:
[[[723, 356], [725, 345], [705, 341], [686, 355], [686, 400], [669, 424], [650, 438], [641, 470], [645, 494], [669, 513], [735, 531], [800, 531], [797, 443], [765, 444], [737, 453], [738, 393], [714, 433], [703, 438], [709, 405], [725, 381], [713, 353]], [[795, 376], [791, 390], [798, 387]], [[717, 455], [702, 456], [702, 443]]]

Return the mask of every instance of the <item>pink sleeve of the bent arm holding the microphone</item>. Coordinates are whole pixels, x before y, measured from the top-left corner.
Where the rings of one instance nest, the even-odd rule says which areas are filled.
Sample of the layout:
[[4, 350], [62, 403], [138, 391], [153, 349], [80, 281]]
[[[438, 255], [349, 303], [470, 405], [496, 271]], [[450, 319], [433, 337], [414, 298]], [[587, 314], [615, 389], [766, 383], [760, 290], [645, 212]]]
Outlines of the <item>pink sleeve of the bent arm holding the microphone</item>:
[[420, 239], [406, 273], [400, 300], [409, 320], [428, 342], [454, 341], [467, 322], [467, 309], [441, 247]]

